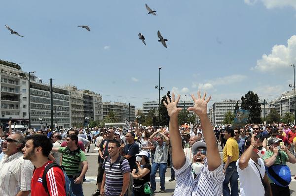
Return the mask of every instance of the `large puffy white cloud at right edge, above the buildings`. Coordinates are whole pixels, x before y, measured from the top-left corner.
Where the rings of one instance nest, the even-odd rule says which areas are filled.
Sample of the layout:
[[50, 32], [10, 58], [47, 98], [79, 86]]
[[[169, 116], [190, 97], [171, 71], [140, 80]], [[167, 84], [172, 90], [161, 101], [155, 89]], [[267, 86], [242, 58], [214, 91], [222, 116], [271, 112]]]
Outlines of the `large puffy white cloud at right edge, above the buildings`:
[[278, 69], [289, 69], [289, 65], [293, 62], [296, 62], [296, 35], [288, 39], [287, 47], [284, 45], [273, 46], [271, 54], [262, 55], [262, 58], [257, 60], [257, 65], [252, 70], [272, 72]]

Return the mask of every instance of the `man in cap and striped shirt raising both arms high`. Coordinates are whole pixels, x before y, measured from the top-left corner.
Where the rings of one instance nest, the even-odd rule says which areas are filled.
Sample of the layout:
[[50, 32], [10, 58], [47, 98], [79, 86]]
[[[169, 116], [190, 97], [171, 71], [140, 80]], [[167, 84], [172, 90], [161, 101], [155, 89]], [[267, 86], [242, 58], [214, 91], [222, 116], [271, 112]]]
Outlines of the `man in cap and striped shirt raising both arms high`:
[[181, 108], [177, 108], [180, 95], [175, 101], [175, 94], [173, 93], [172, 101], [167, 97], [167, 103], [163, 102], [170, 116], [172, 162], [177, 176], [174, 196], [221, 196], [224, 180], [222, 162], [213, 127], [207, 115], [207, 104], [211, 97], [206, 99], [205, 93], [201, 98], [200, 91], [197, 95], [197, 99], [194, 95], [191, 95], [194, 107], [189, 107], [187, 110], [193, 111], [199, 116], [207, 145], [202, 141], [197, 141], [192, 146], [192, 160], [185, 158], [178, 129], [178, 113], [182, 111]]

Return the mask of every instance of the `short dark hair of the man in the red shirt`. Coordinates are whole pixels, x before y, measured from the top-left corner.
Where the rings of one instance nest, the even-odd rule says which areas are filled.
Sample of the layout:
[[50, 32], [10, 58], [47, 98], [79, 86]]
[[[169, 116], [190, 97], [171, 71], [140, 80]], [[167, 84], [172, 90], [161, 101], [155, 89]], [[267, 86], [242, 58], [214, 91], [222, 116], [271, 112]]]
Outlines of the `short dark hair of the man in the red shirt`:
[[52, 150], [52, 143], [45, 135], [31, 135], [27, 136], [26, 140], [32, 140], [34, 149], [36, 147], [41, 147], [42, 155], [48, 157], [50, 151]]

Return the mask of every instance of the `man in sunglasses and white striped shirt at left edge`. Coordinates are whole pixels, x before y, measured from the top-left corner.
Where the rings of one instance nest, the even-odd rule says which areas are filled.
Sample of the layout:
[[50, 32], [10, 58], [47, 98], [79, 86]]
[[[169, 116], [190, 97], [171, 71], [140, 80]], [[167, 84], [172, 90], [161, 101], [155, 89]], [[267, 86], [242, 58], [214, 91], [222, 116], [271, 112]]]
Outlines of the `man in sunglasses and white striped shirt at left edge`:
[[0, 161], [0, 196], [28, 196], [34, 166], [23, 159], [25, 139], [21, 134], [11, 134], [3, 141]]

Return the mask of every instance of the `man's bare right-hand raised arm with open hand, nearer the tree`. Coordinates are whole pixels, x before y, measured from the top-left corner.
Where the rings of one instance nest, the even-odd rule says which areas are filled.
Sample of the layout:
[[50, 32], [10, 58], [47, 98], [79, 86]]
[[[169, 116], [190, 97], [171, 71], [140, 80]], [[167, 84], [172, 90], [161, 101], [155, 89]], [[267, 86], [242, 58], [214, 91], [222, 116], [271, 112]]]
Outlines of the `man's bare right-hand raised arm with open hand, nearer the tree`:
[[191, 95], [194, 101], [194, 107], [189, 107], [187, 110], [193, 111], [200, 118], [203, 137], [205, 138], [205, 143], [207, 144], [208, 169], [210, 171], [214, 171], [221, 165], [221, 157], [218, 150], [217, 140], [213, 132], [213, 127], [207, 114], [207, 105], [211, 99], [211, 96], [206, 99], [206, 94], [207, 93], [205, 92], [203, 98], [201, 98], [200, 91], [198, 91], [197, 99], [194, 97], [194, 95]]

